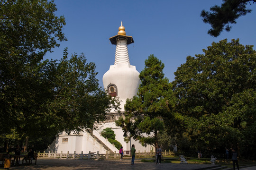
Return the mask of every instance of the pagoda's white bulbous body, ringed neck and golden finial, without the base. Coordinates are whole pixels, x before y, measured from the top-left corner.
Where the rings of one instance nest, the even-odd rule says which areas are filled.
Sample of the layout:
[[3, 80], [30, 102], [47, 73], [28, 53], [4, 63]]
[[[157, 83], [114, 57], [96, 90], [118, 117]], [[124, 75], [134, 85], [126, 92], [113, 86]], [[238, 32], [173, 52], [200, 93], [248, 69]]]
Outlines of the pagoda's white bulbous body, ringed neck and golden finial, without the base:
[[[115, 63], [103, 76], [103, 85], [112, 97], [119, 99], [121, 111], [127, 99], [137, 94], [140, 84], [139, 72], [130, 65], [127, 45], [133, 43], [132, 36], [126, 35], [125, 27], [119, 26], [117, 35], [110, 37], [111, 44], [116, 45]], [[111, 110], [110, 112], [115, 112]]]

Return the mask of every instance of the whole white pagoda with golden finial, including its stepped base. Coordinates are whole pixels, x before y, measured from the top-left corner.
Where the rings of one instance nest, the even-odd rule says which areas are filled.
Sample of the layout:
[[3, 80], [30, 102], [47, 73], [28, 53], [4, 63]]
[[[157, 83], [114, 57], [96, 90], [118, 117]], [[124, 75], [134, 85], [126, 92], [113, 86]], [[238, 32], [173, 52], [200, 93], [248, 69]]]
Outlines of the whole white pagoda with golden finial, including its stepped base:
[[111, 110], [107, 114], [106, 120], [101, 124], [95, 124], [96, 130], [92, 132], [80, 132], [70, 135], [59, 134], [56, 136], [55, 142], [49, 146], [46, 152], [55, 153], [89, 153], [97, 152], [106, 153], [106, 151], [119, 153], [119, 148], [115, 148], [107, 139], [101, 136], [101, 131], [110, 127], [116, 134], [116, 140], [119, 141], [124, 151], [130, 151], [131, 145], [135, 144], [136, 150], [140, 152], [150, 152], [151, 146], [144, 147], [131, 139], [128, 143], [124, 141], [124, 133], [121, 127], [117, 127], [115, 120], [124, 115], [124, 105], [126, 99], [133, 98], [137, 94], [138, 86], [140, 84], [139, 72], [135, 66], [130, 65], [128, 55], [128, 45], [133, 43], [132, 36], [126, 35], [125, 27], [119, 27], [117, 35], [110, 37], [110, 42], [116, 45], [115, 63], [110, 66], [110, 69], [103, 76], [104, 88], [108, 90], [108, 94], [120, 100], [120, 112]]

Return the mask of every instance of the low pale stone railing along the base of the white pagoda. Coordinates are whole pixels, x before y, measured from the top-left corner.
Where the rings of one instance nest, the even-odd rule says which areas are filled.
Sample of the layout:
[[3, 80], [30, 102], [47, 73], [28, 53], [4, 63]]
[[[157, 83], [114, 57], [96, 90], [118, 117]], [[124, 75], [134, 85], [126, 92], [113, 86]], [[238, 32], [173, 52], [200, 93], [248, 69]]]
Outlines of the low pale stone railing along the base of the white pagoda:
[[[166, 152], [166, 150], [164, 152], [162, 152], [163, 156], [170, 156], [170, 155], [174, 155], [174, 152], [171, 152], [169, 150], [169, 152]], [[38, 153], [38, 158], [65, 158], [65, 159], [109, 159], [109, 158], [118, 158], [120, 155], [120, 153], [110, 153], [110, 152], [106, 152], [103, 154], [99, 154], [99, 151], [97, 153], [94, 152], [89, 152], [89, 153]], [[127, 156], [127, 155], [126, 155]], [[142, 157], [153, 157], [155, 156], [155, 152], [149, 152], [146, 153], [146, 151], [144, 152], [136, 152], [136, 157], [142, 158]]]

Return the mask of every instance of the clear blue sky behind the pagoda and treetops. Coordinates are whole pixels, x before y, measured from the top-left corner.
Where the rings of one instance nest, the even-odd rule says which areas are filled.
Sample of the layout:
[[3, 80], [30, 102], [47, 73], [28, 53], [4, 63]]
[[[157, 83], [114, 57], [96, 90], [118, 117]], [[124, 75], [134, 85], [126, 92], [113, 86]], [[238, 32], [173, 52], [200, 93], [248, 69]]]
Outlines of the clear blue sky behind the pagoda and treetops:
[[[96, 64], [97, 78], [114, 64], [115, 45], [109, 38], [118, 33], [123, 21], [126, 34], [133, 36], [128, 45], [130, 64], [141, 72], [145, 59], [154, 54], [165, 64], [165, 76], [172, 82], [174, 72], [186, 62], [187, 56], [203, 54], [212, 42], [239, 38], [243, 45], [256, 45], [256, 4], [247, 5], [252, 12], [239, 17], [230, 32], [217, 38], [207, 34], [209, 24], [202, 22], [202, 9], [220, 5], [222, 0], [55, 0], [57, 16], [66, 19], [61, 42], [45, 59], [60, 59], [65, 47], [71, 55], [85, 54], [88, 62]], [[256, 49], [254, 47], [254, 49]]]

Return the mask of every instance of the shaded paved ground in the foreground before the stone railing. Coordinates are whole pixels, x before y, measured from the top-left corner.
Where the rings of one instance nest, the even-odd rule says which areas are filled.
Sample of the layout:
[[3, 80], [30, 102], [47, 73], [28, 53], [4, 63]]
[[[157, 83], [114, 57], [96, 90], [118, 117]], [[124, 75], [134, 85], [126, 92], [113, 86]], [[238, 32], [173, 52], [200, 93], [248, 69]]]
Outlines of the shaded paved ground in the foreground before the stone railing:
[[[135, 159], [135, 165], [131, 165], [130, 159], [120, 160], [80, 160], [80, 159], [48, 159], [38, 158], [37, 165], [13, 166], [9, 170], [196, 170], [204, 167], [212, 167], [209, 164], [179, 164], [141, 162]], [[3, 169], [2, 167], [0, 169]], [[248, 167], [240, 170], [256, 170], [256, 167]]]

